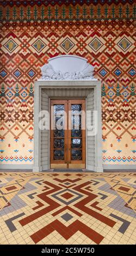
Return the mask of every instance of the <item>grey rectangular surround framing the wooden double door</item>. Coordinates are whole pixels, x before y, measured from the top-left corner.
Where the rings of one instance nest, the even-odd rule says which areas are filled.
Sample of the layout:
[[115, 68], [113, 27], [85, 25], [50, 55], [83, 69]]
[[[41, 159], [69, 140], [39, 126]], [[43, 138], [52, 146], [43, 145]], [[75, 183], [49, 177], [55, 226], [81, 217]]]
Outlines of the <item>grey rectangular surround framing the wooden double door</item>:
[[[87, 166], [86, 169], [94, 170], [96, 172], [103, 172], [102, 167], [102, 121], [101, 121], [101, 82], [90, 81], [90, 80], [47, 80], [47, 81], [36, 81], [35, 82], [35, 96], [34, 96], [34, 166], [33, 172], [41, 172], [45, 167], [40, 165], [40, 129], [39, 129], [39, 112], [41, 110], [41, 89], [55, 88], [94, 88], [95, 93], [95, 108], [97, 110], [98, 117], [98, 131], [96, 135], [96, 166]], [[87, 150], [87, 149], [86, 149]], [[46, 167], [46, 169], [50, 166]], [[44, 169], [45, 170], [45, 169]]]

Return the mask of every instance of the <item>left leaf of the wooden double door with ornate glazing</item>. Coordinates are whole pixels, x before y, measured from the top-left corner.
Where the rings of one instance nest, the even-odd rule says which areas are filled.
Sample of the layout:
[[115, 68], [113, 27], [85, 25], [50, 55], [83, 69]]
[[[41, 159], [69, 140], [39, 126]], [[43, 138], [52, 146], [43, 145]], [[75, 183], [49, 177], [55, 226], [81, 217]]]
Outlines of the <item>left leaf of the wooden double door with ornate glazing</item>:
[[67, 168], [66, 113], [66, 100], [51, 100], [51, 168], [56, 168], [57, 166], [58, 168], [59, 166], [60, 168]]

